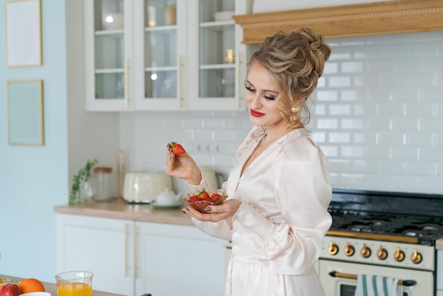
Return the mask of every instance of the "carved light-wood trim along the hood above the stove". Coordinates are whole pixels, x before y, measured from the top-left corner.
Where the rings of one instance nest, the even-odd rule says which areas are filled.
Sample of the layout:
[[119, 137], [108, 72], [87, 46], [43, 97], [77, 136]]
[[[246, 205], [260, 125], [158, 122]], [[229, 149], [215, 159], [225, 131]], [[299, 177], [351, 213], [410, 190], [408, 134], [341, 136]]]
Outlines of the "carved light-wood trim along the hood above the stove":
[[442, 0], [395, 0], [233, 16], [243, 43], [257, 44], [278, 30], [313, 28], [326, 38], [443, 30]]

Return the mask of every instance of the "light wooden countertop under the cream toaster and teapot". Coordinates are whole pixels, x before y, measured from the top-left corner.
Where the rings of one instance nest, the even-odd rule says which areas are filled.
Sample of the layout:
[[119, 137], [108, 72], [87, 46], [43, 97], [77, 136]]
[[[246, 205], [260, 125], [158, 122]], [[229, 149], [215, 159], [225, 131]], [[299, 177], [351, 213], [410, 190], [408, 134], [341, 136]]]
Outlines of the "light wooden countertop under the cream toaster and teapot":
[[[183, 205], [183, 207], [185, 206]], [[181, 212], [183, 207], [159, 209], [152, 205], [128, 204], [124, 200], [117, 199], [90, 205], [57, 205], [54, 207], [54, 211], [63, 214], [194, 225], [191, 218]]]

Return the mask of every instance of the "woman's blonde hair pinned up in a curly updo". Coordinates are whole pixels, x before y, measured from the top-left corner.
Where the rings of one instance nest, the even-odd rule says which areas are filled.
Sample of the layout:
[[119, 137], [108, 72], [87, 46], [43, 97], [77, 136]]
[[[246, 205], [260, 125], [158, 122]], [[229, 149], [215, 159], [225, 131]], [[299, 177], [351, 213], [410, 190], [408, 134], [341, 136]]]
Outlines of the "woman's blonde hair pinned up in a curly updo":
[[[306, 99], [316, 89], [330, 52], [323, 35], [311, 28], [297, 28], [291, 33], [279, 31], [267, 37], [251, 55], [248, 65], [257, 62], [274, 76], [280, 92], [280, 114], [289, 128], [301, 127], [311, 120]], [[297, 98], [300, 103], [294, 112], [292, 106]]]

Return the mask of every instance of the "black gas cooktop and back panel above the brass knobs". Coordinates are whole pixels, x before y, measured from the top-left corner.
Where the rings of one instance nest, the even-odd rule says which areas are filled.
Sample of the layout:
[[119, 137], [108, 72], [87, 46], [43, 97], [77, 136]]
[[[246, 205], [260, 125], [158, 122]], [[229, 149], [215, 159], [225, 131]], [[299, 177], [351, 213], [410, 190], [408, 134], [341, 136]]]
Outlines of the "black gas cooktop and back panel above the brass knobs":
[[443, 195], [333, 190], [329, 233], [435, 244], [443, 237]]

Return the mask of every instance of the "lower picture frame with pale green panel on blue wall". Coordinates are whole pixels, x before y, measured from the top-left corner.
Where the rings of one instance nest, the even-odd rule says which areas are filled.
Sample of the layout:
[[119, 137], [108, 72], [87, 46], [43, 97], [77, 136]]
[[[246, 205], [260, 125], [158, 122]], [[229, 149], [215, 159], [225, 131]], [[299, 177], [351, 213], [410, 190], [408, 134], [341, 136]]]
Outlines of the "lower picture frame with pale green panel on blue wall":
[[43, 146], [43, 81], [8, 81], [8, 142]]

